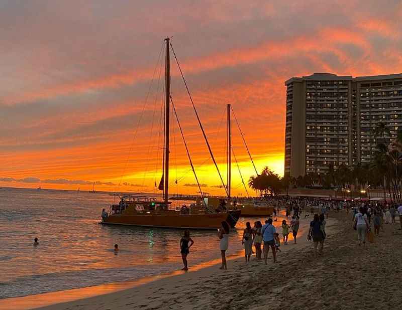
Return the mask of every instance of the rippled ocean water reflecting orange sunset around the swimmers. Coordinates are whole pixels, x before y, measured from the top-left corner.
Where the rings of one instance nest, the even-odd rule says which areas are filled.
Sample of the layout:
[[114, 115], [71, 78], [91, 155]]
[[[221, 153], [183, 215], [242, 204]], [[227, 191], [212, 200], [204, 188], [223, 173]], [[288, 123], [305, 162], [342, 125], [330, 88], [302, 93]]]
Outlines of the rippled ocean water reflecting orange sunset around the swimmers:
[[[107, 193], [0, 189], [0, 298], [135, 280], [182, 268], [181, 230], [98, 224], [102, 208], [113, 200]], [[240, 218], [230, 235], [228, 255], [243, 249], [241, 228], [246, 221], [258, 219], [265, 220]], [[195, 243], [189, 267], [220, 257], [216, 231], [191, 231], [191, 237]]]

